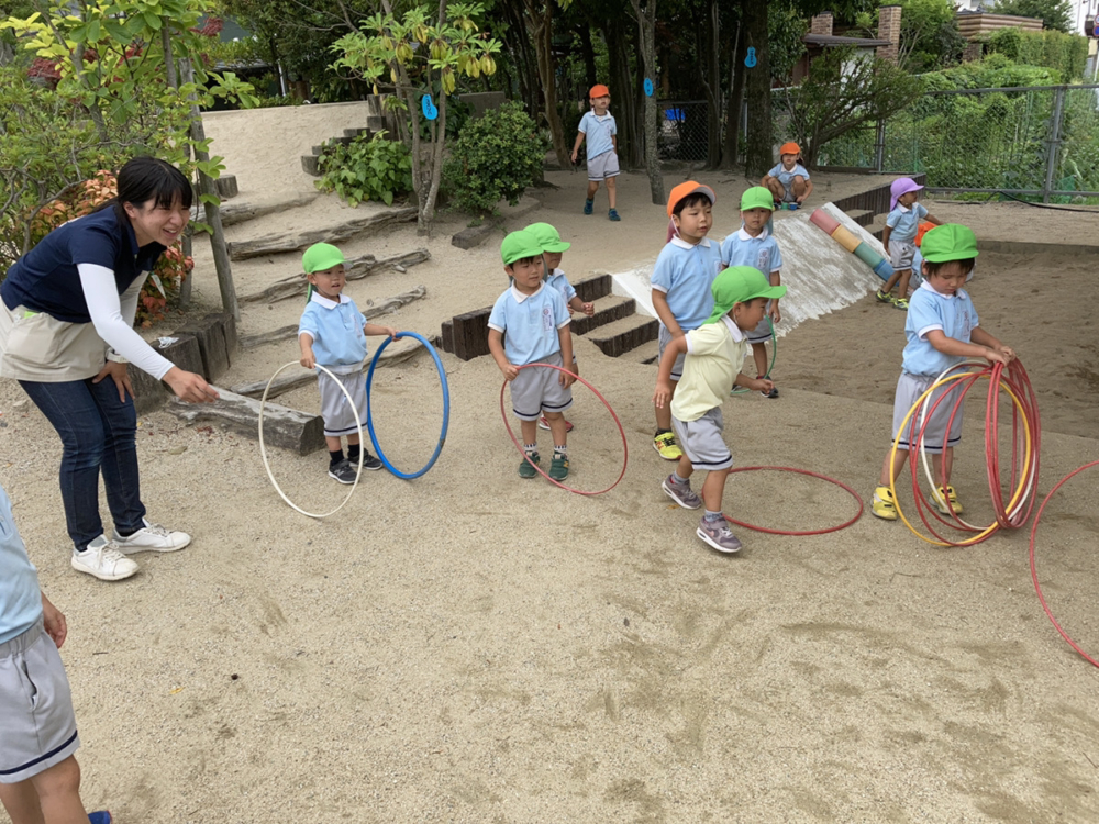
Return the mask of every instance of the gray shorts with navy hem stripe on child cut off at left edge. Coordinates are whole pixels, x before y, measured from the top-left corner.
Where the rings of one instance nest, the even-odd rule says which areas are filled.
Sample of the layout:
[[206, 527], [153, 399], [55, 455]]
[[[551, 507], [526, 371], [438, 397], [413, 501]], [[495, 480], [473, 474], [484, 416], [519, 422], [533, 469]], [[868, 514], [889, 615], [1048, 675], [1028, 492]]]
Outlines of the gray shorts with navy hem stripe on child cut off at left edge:
[[42, 620], [0, 644], [0, 783], [25, 781], [80, 746], [65, 665]]

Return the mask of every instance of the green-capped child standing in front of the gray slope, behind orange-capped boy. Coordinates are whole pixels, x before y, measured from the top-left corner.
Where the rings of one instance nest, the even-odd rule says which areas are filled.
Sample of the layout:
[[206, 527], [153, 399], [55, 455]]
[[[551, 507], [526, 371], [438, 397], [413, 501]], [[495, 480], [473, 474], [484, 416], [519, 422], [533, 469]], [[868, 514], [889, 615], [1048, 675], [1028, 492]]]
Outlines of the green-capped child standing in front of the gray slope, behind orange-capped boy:
[[[733, 232], [721, 242], [722, 266], [751, 266], [764, 274], [770, 274], [770, 285], [779, 286], [781, 281], [779, 269], [782, 268], [782, 253], [778, 250], [778, 242], [767, 231], [775, 205], [770, 192], [762, 186], [754, 186], [741, 196], [741, 221], [739, 232]], [[770, 319], [770, 323], [767, 319]], [[752, 344], [752, 358], [755, 360], [756, 377], [771, 378], [767, 375], [767, 342], [774, 338], [771, 324], [782, 320], [778, 309], [778, 300], [767, 304], [767, 314], [757, 329], [748, 332], [748, 343]], [[771, 386], [765, 398], [778, 398], [778, 389]]]

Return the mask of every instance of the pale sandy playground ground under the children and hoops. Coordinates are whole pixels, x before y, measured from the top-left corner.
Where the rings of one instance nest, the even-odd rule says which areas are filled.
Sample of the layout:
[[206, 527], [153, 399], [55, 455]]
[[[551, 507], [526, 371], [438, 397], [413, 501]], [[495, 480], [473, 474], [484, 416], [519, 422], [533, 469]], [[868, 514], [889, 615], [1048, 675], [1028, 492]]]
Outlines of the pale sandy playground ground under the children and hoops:
[[[355, 125], [333, 111], [300, 142]], [[310, 115], [323, 120], [323, 109]], [[208, 130], [242, 199], [308, 190], [297, 146], [271, 166], [284, 149], [269, 123], [211, 118]], [[644, 176], [621, 178], [619, 224], [579, 214], [581, 175], [548, 179], [560, 188], [515, 223], [557, 225], [574, 243], [564, 263], [574, 279], [655, 258], [665, 219], [647, 202]], [[723, 235], [744, 181], [715, 182]], [[867, 179], [828, 182], [845, 193]], [[1073, 214], [1035, 226], [1025, 207], [951, 208], [983, 236], [1079, 242], [1095, 225]], [[317, 209], [329, 212], [310, 207], [231, 232], [323, 225], [341, 207], [322, 199]], [[462, 225], [444, 215], [432, 238], [407, 226], [346, 244], [348, 255], [417, 246], [433, 255], [349, 293], [363, 304], [424, 283], [425, 299], [382, 320], [426, 333], [491, 302], [506, 286], [497, 247], [449, 246]], [[292, 256], [240, 264], [238, 291], [296, 267]], [[1097, 335], [1090, 307], [1074, 299], [1089, 293], [1089, 275], [1083, 259], [990, 254], [973, 283], [983, 324], [1034, 377], [1043, 494], [1099, 458]], [[213, 304], [217, 294], [200, 255], [196, 297]], [[242, 331], [299, 312], [293, 300], [251, 307]], [[863, 302], [785, 337], [781, 399], [725, 407], [737, 465], [822, 471], [868, 498], [888, 442], [902, 322]], [[488, 358], [444, 355], [451, 422], [440, 461], [411, 482], [367, 475], [324, 522], [278, 499], [254, 441], [166, 412], [144, 417], [149, 514], [195, 543], [143, 556], [142, 572], [116, 584], [69, 569], [57, 438], [18, 386], [0, 383], [0, 480], [43, 587], [68, 615], [63, 656], [89, 808], [110, 806], [122, 824], [1099, 817], [1099, 681], [1042, 614], [1025, 531], [942, 550], [864, 514], [823, 536], [741, 531], [741, 556], [718, 556], [695, 537], [696, 515], [659, 490], [669, 465], [650, 448], [653, 368], [606, 358], [582, 339], [577, 352], [625, 427], [629, 467], [612, 492], [520, 482], [499, 370]], [[292, 341], [252, 350], [221, 382], [266, 378], [291, 359]], [[282, 400], [317, 408], [309, 389]], [[442, 413], [432, 361], [380, 371], [374, 402], [387, 454], [418, 466]], [[956, 486], [984, 522], [977, 407]], [[570, 480], [606, 487], [623, 463], [610, 416], [578, 389], [569, 417]], [[346, 492], [325, 477], [322, 455], [273, 464], [307, 508], [331, 509]], [[1051, 605], [1092, 653], [1096, 471], [1054, 499], [1039, 542]], [[796, 530], [856, 508], [823, 481], [776, 472], [734, 476], [725, 503], [734, 516]]]

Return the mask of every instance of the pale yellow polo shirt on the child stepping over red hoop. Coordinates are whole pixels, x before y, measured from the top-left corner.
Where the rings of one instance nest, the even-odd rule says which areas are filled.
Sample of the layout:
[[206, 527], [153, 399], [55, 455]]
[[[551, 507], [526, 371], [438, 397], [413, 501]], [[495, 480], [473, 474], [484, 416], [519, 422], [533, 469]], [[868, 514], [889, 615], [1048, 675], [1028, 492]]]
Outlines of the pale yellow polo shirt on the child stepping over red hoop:
[[724, 403], [747, 350], [744, 333], [729, 315], [688, 332], [684, 377], [671, 399], [671, 414], [697, 421]]

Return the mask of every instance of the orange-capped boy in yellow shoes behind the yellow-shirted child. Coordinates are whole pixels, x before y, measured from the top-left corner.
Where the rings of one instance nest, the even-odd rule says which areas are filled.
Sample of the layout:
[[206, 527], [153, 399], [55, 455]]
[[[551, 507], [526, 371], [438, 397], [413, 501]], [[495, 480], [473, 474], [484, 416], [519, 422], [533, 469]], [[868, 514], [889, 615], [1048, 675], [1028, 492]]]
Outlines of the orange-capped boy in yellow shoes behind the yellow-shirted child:
[[[660, 250], [651, 280], [653, 309], [660, 319], [660, 357], [668, 344], [701, 326], [713, 311], [710, 286], [721, 271], [721, 250], [707, 234], [713, 225], [713, 189], [695, 180], [679, 183], [668, 197], [668, 218], [675, 229], [671, 240]], [[671, 366], [671, 392], [682, 377], [682, 355]], [[653, 448], [665, 460], [679, 460], [682, 449], [671, 431], [671, 411], [656, 407], [656, 434]]]

